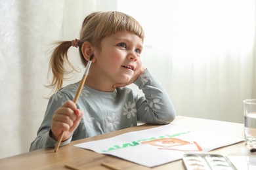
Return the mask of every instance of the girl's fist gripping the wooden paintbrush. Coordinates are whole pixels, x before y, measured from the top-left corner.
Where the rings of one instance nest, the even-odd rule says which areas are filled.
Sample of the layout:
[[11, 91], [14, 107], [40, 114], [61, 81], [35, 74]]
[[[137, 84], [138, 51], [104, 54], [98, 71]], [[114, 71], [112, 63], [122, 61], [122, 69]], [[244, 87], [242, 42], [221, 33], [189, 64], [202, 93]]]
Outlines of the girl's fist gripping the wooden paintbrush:
[[51, 136], [56, 141], [60, 137], [62, 131], [65, 131], [62, 141], [66, 141], [74, 133], [79, 125], [83, 111], [77, 109], [73, 101], [67, 101], [59, 107], [53, 114], [51, 124]]

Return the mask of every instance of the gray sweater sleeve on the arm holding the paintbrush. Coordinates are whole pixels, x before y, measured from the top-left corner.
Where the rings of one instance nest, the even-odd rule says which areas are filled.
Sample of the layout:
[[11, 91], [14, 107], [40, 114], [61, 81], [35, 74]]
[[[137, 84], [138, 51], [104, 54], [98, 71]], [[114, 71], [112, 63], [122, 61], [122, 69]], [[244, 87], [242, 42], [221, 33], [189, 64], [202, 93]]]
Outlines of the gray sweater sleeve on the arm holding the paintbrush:
[[[58, 109], [63, 103], [69, 100], [68, 95], [64, 95], [62, 92], [55, 93], [50, 99], [47, 106], [47, 110], [45, 112], [45, 117], [43, 118], [43, 122], [37, 131], [37, 137], [30, 145], [30, 151], [37, 150], [41, 148], [54, 148], [57, 141], [55, 141], [51, 135], [51, 122], [53, 118], [54, 111]], [[70, 139], [63, 141], [60, 143], [60, 146], [64, 146], [72, 140]]]

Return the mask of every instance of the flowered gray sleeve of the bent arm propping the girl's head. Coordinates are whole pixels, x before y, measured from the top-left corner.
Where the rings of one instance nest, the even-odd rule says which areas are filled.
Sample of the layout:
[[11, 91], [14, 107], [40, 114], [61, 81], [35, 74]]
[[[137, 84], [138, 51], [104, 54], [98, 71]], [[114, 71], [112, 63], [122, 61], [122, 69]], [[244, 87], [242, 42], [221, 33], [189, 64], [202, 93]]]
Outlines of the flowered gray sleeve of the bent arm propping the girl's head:
[[175, 119], [175, 109], [167, 92], [146, 69], [135, 81], [144, 93], [137, 97], [138, 120], [147, 124], [169, 124]]

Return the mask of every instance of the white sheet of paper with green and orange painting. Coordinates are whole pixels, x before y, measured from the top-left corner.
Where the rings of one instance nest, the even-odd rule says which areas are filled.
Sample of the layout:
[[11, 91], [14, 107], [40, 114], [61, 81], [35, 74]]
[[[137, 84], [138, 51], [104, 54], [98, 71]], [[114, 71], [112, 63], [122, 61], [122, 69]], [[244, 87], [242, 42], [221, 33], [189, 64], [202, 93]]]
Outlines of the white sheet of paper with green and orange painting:
[[240, 141], [244, 139], [207, 130], [193, 131], [168, 124], [74, 146], [117, 156], [146, 167], [154, 167], [180, 160], [185, 153], [208, 152]]

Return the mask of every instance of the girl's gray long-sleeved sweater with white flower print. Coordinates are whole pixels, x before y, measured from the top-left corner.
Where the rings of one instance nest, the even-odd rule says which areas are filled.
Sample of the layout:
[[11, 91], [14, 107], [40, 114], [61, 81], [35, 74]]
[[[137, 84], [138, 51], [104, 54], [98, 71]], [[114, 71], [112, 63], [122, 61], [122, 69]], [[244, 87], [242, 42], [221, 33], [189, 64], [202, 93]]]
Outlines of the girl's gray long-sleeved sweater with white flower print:
[[[146, 124], [169, 124], [174, 120], [173, 103], [148, 69], [134, 83], [144, 96], [127, 87], [116, 88], [114, 92], [100, 92], [84, 86], [77, 101], [77, 108], [83, 110], [84, 116], [72, 137], [60, 146], [77, 139], [137, 126], [138, 121]], [[74, 99], [78, 86], [79, 82], [70, 84], [49, 99], [45, 117], [30, 151], [54, 147], [56, 141], [49, 134], [54, 111], [66, 101]]]

